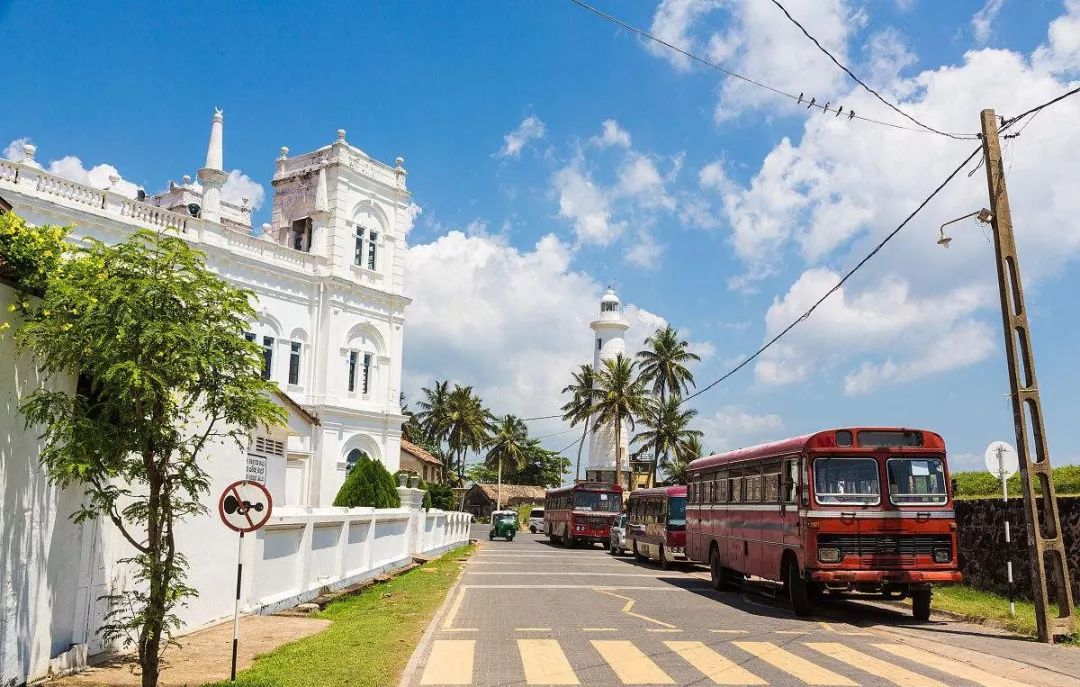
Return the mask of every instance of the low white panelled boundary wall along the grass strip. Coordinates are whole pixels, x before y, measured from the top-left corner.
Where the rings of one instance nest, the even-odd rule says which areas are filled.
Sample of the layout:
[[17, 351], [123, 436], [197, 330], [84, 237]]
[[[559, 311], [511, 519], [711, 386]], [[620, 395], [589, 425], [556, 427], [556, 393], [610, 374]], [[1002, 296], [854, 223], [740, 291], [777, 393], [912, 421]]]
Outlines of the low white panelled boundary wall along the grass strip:
[[468, 513], [413, 508], [278, 509], [245, 540], [241, 606], [274, 612], [402, 567], [416, 554], [448, 551], [469, 541], [471, 522]]

